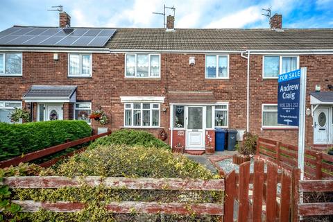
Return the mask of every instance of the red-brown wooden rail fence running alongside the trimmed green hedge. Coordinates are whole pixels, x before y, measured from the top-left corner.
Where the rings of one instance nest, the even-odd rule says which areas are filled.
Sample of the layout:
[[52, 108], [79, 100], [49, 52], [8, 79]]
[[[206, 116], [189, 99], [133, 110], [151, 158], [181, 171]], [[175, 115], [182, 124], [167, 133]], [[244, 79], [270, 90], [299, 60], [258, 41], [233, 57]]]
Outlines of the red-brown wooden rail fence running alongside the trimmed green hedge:
[[[71, 148], [73, 146], [78, 146], [80, 144], [84, 144], [86, 142], [90, 142], [90, 141], [93, 141], [93, 140], [95, 140], [99, 137], [104, 137], [104, 136], [110, 135], [110, 134], [111, 134], [111, 131], [108, 131], [107, 133], [101, 133], [99, 135], [93, 135], [93, 136], [85, 137], [85, 138], [82, 138], [82, 139], [76, 139], [74, 141], [67, 142], [65, 144], [59, 144], [59, 145], [56, 145], [56, 146], [51, 146], [49, 148], [44, 148], [40, 151], [27, 153], [27, 154], [24, 154], [22, 156], [14, 157], [14, 158], [9, 159], [9, 160], [3, 160], [3, 161], [0, 162], [0, 168], [10, 167], [10, 165], [16, 166], [20, 162], [29, 162], [29, 161], [32, 161], [32, 160], [37, 160], [37, 159], [39, 159], [41, 157], [44, 157], [46, 155], [51, 155], [53, 153], [63, 151], [67, 148]], [[77, 151], [74, 151], [72, 153], [67, 153], [67, 155], [63, 155], [62, 157], [57, 157], [53, 160], [49, 160], [47, 162], [44, 162], [44, 163], [40, 164], [40, 166], [41, 167], [50, 167], [51, 165], [56, 164], [56, 162], [58, 162], [62, 158], [74, 155], [74, 153], [84, 151], [84, 150], [85, 150], [85, 148], [81, 148], [81, 149], [79, 149]]]

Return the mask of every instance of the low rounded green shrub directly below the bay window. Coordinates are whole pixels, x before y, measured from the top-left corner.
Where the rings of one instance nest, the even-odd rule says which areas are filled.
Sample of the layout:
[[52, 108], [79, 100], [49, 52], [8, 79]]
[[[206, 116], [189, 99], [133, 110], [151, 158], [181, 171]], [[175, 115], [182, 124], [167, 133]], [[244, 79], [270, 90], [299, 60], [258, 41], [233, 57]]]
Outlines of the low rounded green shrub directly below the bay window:
[[144, 130], [117, 130], [108, 137], [96, 139], [90, 147], [99, 145], [126, 144], [171, 149], [171, 147]]

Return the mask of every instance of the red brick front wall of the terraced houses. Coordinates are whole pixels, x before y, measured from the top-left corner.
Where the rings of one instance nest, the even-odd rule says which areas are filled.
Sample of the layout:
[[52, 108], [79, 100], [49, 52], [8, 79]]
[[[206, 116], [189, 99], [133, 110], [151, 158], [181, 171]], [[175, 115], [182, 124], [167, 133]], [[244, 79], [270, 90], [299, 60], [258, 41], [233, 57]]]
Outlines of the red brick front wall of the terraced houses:
[[[189, 65], [189, 57], [196, 58], [196, 65]], [[166, 96], [161, 105], [160, 126], [169, 132], [169, 91], [212, 91], [218, 101], [229, 102], [229, 128], [246, 128], [246, 65], [240, 54], [230, 54], [230, 79], [205, 79], [205, 55], [167, 54], [161, 55], [162, 75], [159, 79], [124, 78], [123, 53], [93, 53], [92, 78], [67, 77], [67, 53], [59, 53], [59, 60], [53, 60], [53, 53], [23, 53], [23, 76], [0, 77], [0, 100], [21, 99], [33, 84], [77, 85], [76, 99], [92, 101], [92, 109], [100, 106], [110, 119], [106, 125], [111, 130], [123, 126], [123, 104], [119, 96]], [[333, 56], [300, 56], [300, 67], [308, 67], [308, 95], [314, 85], [333, 83]], [[271, 139], [297, 143], [298, 130], [261, 130], [262, 103], [277, 103], [277, 80], [262, 79], [262, 56], [250, 56], [250, 131]], [[327, 80], [327, 81], [326, 81]], [[309, 96], [307, 96], [309, 105]], [[69, 108], [69, 110], [72, 110]], [[34, 109], [34, 116], [37, 109]], [[72, 114], [66, 114], [70, 117]], [[312, 142], [312, 121], [307, 117], [308, 144]], [[92, 127], [99, 127], [92, 121]], [[150, 129], [155, 135], [160, 129]], [[170, 135], [168, 133], [168, 137]], [[167, 140], [169, 141], [169, 139]]]

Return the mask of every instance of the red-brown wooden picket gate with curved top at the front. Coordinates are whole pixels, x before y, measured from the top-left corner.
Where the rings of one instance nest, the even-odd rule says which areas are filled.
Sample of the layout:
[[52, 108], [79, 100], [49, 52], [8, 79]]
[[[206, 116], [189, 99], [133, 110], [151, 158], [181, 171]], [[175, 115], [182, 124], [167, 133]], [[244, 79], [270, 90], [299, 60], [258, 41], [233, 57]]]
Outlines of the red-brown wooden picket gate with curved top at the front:
[[255, 158], [225, 178], [224, 221], [289, 221], [291, 214], [291, 172], [277, 164]]

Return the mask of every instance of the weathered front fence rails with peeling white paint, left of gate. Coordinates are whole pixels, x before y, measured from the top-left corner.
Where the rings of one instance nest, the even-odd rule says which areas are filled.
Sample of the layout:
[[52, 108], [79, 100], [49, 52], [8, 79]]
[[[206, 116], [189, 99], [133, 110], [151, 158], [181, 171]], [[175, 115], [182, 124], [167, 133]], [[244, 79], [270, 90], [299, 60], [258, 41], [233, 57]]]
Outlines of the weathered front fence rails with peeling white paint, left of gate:
[[[0, 185], [10, 188], [43, 188], [79, 187], [82, 182], [89, 186], [103, 185], [110, 189], [139, 190], [180, 190], [180, 191], [224, 191], [224, 180], [199, 180], [178, 178], [101, 178], [88, 176], [85, 178], [67, 178], [58, 176], [45, 177], [8, 177]], [[35, 202], [33, 200], [12, 200], [22, 206], [24, 212], [36, 212], [40, 208], [53, 212], [78, 212], [85, 207], [84, 203], [61, 201], [56, 203]], [[216, 215], [223, 218], [223, 200], [221, 203], [160, 203], [122, 201], [106, 205], [109, 212], [127, 214], [133, 212], [146, 214], [196, 214]]]

